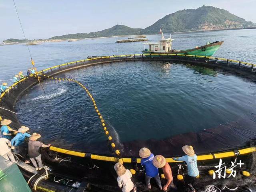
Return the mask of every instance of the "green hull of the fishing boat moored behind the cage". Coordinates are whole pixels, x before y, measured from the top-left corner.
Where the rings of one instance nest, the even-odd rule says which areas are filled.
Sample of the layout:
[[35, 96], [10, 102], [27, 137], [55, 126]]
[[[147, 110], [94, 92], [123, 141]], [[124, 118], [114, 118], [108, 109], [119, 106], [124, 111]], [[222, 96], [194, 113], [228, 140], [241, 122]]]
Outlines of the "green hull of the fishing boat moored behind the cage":
[[197, 56], [212, 56], [224, 41], [215, 42], [208, 45], [200, 46], [198, 48], [173, 51], [173, 52], [151, 52], [143, 50], [143, 54], [181, 54], [181, 55], [197, 55]]

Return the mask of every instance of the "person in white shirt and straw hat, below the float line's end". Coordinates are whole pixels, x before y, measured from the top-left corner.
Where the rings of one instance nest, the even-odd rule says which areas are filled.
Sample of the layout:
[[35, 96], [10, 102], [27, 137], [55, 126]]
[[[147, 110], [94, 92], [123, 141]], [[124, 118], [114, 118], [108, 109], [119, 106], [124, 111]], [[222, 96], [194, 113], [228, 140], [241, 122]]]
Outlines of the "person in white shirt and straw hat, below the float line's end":
[[136, 192], [136, 185], [133, 184], [131, 180], [132, 173], [128, 169], [125, 169], [123, 164], [121, 164], [120, 162], [115, 164], [114, 170], [118, 175], [117, 183], [118, 186], [122, 188], [122, 192]]

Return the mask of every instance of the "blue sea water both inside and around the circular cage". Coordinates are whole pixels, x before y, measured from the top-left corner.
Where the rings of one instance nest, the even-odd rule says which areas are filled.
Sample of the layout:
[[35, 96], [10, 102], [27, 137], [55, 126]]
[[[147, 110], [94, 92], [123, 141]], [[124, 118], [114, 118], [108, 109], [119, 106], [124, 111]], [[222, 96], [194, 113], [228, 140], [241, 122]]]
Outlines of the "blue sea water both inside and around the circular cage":
[[[167, 37], [168, 35], [166, 35]], [[150, 41], [160, 35], [147, 36]], [[224, 40], [214, 56], [256, 63], [256, 30], [173, 34], [173, 48]], [[37, 68], [85, 59], [89, 55], [140, 54], [143, 42], [102, 38], [30, 46]], [[26, 46], [0, 46], [1, 80], [12, 82], [30, 67]], [[161, 140], [214, 128], [256, 113], [256, 84], [241, 76], [200, 66], [166, 62], [120, 62], [90, 66], [59, 76], [82, 82], [94, 96], [104, 119], [121, 141]], [[36, 85], [17, 104], [18, 117], [54, 146], [86, 151], [106, 140], [91, 100], [76, 84], [46, 80], [46, 94]]]

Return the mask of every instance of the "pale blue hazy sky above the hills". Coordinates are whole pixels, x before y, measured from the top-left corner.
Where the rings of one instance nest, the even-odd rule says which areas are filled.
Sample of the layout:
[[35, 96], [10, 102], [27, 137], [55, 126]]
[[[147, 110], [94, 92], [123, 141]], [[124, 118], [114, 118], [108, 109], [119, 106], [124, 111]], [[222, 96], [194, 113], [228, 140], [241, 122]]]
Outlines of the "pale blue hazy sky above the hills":
[[[116, 24], [146, 28], [167, 14], [205, 4], [256, 23], [256, 0], [14, 0], [27, 39], [89, 33]], [[13, 0], [0, 0], [0, 42], [24, 39]]]

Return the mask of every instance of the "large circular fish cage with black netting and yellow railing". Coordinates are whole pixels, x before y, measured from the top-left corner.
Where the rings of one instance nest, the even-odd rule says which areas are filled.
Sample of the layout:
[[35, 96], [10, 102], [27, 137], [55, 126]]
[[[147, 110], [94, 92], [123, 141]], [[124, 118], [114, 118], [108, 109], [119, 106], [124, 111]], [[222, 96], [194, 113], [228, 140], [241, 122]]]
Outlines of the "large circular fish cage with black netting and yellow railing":
[[[159, 148], [166, 148], [166, 150], [162, 150], [160, 153], [164, 154], [166, 161], [171, 163], [174, 183], [179, 186], [179, 191], [184, 191], [184, 184], [182, 180], [178, 180], [177, 175], [186, 175], [186, 171], [184, 171], [186, 169], [182, 170], [180, 166], [183, 165], [184, 168], [185, 164], [174, 161], [172, 157], [181, 156], [182, 146], [191, 144], [196, 154], [198, 154], [198, 167], [200, 170], [200, 178], [196, 180], [198, 191], [206, 191], [204, 187], [208, 185], [224, 186], [222, 191], [228, 191], [228, 188], [234, 189], [238, 186], [241, 190], [246, 191], [248, 190], [247, 188], [254, 190], [255, 186], [252, 184], [252, 181], [256, 179], [254, 176], [256, 174], [254, 169], [254, 153], [256, 148], [254, 147], [253, 140], [256, 136], [254, 131], [255, 120], [247, 121], [246, 127], [243, 128], [242, 126], [245, 125], [245, 122], [243, 119], [240, 119], [234, 123], [225, 124], [217, 128], [178, 134], [178, 136], [174, 136], [171, 139], [167, 138], [161, 141], [121, 142], [114, 127], [108, 120], [104, 119], [104, 114], [102, 114], [98, 107], [100, 101], [94, 99], [90, 88], [75, 78], [60, 75], [69, 70], [92, 65], [136, 61], [182, 62], [241, 74], [243, 78], [251, 82], [256, 80], [255, 64], [223, 58], [177, 54], [136, 54], [91, 58], [47, 68], [34, 75], [25, 77], [10, 86], [9, 91], [5, 91], [0, 96], [0, 106], [6, 109], [1, 110], [0, 116], [2, 119], [12, 120], [12, 128], [18, 129], [21, 126], [18, 116], [14, 115], [13, 112], [16, 112], [15, 105], [22, 94], [39, 82], [54, 80], [75, 84], [77, 88], [84, 91], [85, 97], [90, 100], [91, 108], [93, 108], [98, 118], [99, 129], [101, 128], [102, 134], [106, 136], [104, 141], [97, 144], [95, 151], [73, 151], [60, 146], [42, 148], [42, 158], [48, 168], [39, 173], [36, 173], [30, 165], [23, 163], [26, 160], [26, 152], [16, 156], [20, 160], [18, 165], [30, 187], [36, 191], [118, 191], [118, 186], [115, 183], [117, 176], [113, 166], [121, 159], [127, 168], [135, 170], [133, 181], [137, 184], [138, 191], [147, 191], [144, 184], [143, 168], [140, 166], [140, 158], [138, 157], [138, 150], [142, 146], [146, 146], [155, 154], [158, 153]], [[102, 152], [106, 149], [106, 153]], [[230, 164], [230, 161], [243, 160], [246, 166], [240, 167], [237, 170], [238, 174], [235, 178], [213, 180], [208, 171], [215, 169], [214, 166], [216, 166], [216, 162], [219, 159], [223, 159], [227, 164]], [[251, 173], [250, 177], [242, 174], [244, 170]], [[164, 179], [162, 182], [165, 182]], [[150, 191], [159, 190], [153, 184]]]

